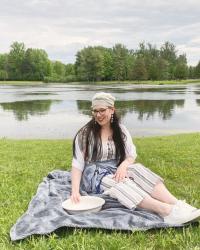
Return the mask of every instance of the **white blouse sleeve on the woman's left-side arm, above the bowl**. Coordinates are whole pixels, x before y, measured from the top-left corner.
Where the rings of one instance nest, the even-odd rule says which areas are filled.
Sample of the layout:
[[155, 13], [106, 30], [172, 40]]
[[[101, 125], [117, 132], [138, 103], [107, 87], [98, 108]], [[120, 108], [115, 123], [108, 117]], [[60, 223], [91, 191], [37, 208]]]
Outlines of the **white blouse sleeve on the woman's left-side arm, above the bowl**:
[[80, 149], [80, 145], [78, 143], [78, 135], [75, 139], [75, 155], [76, 157], [73, 157], [72, 159], [72, 168], [78, 168], [79, 170], [83, 171], [85, 166], [85, 160], [83, 152]]

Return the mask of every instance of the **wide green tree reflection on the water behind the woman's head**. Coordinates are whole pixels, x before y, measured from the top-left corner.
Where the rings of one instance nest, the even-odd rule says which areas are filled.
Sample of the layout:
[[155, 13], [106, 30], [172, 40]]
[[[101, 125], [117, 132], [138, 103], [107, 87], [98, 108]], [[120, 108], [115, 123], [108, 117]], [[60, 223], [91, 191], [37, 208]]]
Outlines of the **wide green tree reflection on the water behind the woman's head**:
[[[139, 120], [153, 118], [157, 113], [162, 120], [168, 120], [172, 117], [173, 110], [176, 107], [183, 107], [184, 100], [134, 100], [134, 101], [116, 101], [117, 113], [121, 118], [127, 113], [135, 112]], [[77, 100], [77, 107], [80, 113], [91, 116], [91, 102]]]

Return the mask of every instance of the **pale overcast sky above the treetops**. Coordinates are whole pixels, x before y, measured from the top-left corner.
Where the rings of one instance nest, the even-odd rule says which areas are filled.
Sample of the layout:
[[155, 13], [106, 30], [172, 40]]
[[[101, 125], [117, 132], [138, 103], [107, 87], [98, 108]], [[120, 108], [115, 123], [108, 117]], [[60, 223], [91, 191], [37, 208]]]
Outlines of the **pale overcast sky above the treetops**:
[[165, 41], [200, 60], [199, 0], [0, 0], [0, 53], [13, 41], [45, 49], [52, 60], [73, 63], [88, 45], [138, 48]]

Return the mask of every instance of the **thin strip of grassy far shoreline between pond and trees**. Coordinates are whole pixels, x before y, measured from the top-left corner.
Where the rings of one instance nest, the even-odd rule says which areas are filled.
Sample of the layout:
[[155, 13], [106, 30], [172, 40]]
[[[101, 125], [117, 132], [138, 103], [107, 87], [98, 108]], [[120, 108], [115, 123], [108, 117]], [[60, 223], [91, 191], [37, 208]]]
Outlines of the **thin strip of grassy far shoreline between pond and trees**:
[[186, 79], [186, 80], [162, 80], [162, 81], [98, 81], [98, 82], [55, 82], [55, 83], [45, 83], [42, 81], [0, 81], [0, 85], [49, 85], [49, 84], [92, 84], [92, 85], [110, 85], [110, 84], [136, 84], [136, 85], [180, 85], [180, 84], [191, 84], [191, 83], [199, 83], [200, 79]]

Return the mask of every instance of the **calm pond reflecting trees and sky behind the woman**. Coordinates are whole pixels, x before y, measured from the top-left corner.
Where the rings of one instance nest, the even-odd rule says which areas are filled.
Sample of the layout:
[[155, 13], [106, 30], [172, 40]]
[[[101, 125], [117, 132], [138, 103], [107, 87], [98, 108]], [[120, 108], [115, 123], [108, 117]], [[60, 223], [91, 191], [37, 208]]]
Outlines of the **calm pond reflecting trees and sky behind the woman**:
[[200, 131], [200, 84], [0, 85], [0, 138], [73, 138], [98, 91], [116, 97], [133, 137]]

